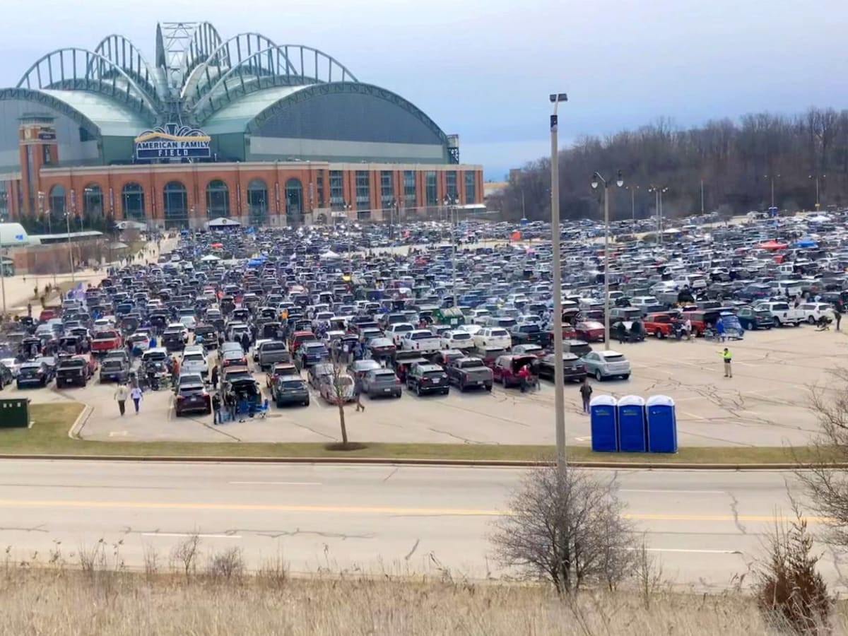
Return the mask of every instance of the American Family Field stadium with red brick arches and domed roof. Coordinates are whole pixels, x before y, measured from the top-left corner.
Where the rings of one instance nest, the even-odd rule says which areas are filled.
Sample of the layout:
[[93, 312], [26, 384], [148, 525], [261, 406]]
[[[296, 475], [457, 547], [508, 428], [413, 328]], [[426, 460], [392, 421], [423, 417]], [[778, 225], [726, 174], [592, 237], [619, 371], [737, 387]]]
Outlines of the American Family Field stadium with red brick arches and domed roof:
[[152, 60], [111, 35], [0, 90], [0, 218], [298, 226], [483, 208], [458, 136], [321, 50], [160, 23]]

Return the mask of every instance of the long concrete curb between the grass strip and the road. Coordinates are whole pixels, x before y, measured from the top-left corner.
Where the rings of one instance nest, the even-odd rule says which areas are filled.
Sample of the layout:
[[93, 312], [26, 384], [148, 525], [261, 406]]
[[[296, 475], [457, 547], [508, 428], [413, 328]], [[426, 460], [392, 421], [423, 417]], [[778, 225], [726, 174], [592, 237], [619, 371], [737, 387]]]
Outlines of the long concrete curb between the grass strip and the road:
[[[71, 427], [70, 433], [82, 420], [85, 411]], [[438, 460], [438, 459], [392, 459], [388, 457], [191, 457], [178, 455], [14, 455], [0, 454], [0, 460], [74, 460], [74, 461], [159, 461], [171, 463], [204, 463], [204, 464], [342, 464], [342, 465], [384, 465], [384, 466], [442, 466], [442, 467], [477, 467], [477, 468], [533, 468], [550, 466], [548, 462], [526, 460]], [[604, 469], [604, 470], [641, 470], [641, 471], [796, 471], [806, 470], [816, 466], [801, 464], [672, 464], [650, 462], [616, 462], [616, 461], [573, 461], [568, 466], [574, 468]], [[832, 470], [846, 470], [848, 464], [832, 464], [827, 466]]]

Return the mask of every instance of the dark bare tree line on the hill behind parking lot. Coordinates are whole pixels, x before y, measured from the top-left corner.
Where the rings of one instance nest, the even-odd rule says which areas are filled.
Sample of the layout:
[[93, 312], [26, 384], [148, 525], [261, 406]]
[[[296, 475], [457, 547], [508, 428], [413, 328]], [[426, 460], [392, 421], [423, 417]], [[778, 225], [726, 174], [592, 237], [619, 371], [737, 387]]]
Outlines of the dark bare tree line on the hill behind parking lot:
[[[804, 114], [746, 114], [739, 122], [711, 120], [683, 130], [660, 119], [609, 137], [579, 137], [560, 151], [563, 219], [598, 218], [600, 192], [590, 182], [597, 170], [624, 187], [610, 189], [615, 219], [656, 214], [651, 186], [664, 188], [664, 216], [706, 212], [738, 214], [767, 209], [821, 209], [848, 204], [848, 110], [809, 109]], [[816, 178], [818, 177], [818, 179]], [[702, 186], [703, 184], [703, 186]], [[513, 170], [490, 208], [517, 220], [550, 218], [550, 159]]]

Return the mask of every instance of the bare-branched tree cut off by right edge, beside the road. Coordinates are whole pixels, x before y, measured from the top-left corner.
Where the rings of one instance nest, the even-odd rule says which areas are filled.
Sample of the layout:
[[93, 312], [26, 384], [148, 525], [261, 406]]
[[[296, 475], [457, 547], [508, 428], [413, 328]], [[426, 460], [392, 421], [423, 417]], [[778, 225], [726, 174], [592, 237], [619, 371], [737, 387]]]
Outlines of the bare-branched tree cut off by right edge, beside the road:
[[848, 369], [829, 371], [830, 382], [810, 389], [809, 404], [822, 434], [809, 445], [811, 457], [796, 476], [806, 488], [810, 507], [827, 520], [830, 544], [848, 548]]

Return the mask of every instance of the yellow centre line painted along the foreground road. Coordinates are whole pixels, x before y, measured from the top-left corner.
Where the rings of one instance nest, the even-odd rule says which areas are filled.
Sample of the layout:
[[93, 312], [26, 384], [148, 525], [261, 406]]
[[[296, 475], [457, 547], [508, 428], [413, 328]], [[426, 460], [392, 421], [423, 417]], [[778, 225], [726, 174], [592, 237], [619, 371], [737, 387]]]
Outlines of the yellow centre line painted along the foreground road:
[[[392, 516], [504, 516], [505, 510], [476, 510], [473, 508], [399, 508], [372, 505], [276, 505], [276, 504], [216, 504], [176, 503], [157, 501], [28, 501], [0, 499], [0, 508], [97, 508], [126, 510], [233, 510], [256, 512], [312, 512], [343, 515], [392, 515]], [[791, 522], [794, 517], [773, 515], [678, 515], [627, 513], [623, 518], [646, 522]], [[826, 523], [828, 517], [807, 516], [807, 522]]]

